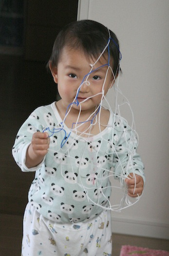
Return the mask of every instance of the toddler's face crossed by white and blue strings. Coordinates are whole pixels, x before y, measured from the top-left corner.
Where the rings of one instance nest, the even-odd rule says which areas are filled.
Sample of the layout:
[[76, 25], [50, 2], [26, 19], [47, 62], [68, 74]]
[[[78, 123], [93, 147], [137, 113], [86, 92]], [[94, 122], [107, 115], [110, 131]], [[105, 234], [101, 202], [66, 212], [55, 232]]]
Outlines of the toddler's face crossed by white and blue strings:
[[[95, 107], [99, 105], [108, 66], [99, 67], [107, 64], [108, 60], [101, 57], [93, 67], [93, 70], [99, 69], [92, 72], [85, 82], [86, 78], [84, 79], [84, 77], [91, 71], [90, 63], [94, 64], [94, 61], [92, 58], [87, 58], [80, 49], [63, 48], [57, 68], [52, 70], [52, 75], [57, 83], [58, 93], [65, 108], [70, 103], [78, 101], [82, 111], [92, 113]], [[82, 83], [83, 79], [84, 82]], [[107, 94], [112, 81], [112, 72], [109, 70], [104, 84], [104, 95]], [[77, 90], [79, 92], [76, 97]], [[87, 100], [83, 102], [85, 99]], [[73, 104], [72, 107], [79, 110], [78, 104]]]

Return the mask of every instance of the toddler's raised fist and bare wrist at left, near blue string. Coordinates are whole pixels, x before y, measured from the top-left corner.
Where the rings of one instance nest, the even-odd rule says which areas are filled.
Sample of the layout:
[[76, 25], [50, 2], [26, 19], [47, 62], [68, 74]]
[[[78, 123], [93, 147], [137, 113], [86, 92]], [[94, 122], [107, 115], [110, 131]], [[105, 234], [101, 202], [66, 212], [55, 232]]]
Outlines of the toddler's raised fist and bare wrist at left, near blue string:
[[37, 166], [48, 153], [50, 138], [48, 133], [37, 132], [32, 136], [26, 153], [25, 164], [28, 168]]

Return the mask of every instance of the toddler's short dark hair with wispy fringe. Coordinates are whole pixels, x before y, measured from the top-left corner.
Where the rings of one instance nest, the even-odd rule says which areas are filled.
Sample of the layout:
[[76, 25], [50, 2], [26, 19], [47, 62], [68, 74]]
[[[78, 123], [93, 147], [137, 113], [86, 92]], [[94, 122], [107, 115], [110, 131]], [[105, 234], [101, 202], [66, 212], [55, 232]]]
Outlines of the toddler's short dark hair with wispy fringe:
[[[110, 31], [110, 35], [109, 35]], [[95, 59], [109, 43], [110, 59], [113, 60], [113, 73], [118, 75], [119, 60], [121, 58], [119, 42], [116, 35], [104, 25], [94, 20], [79, 20], [67, 24], [57, 35], [51, 58], [48, 61], [51, 67], [56, 67], [64, 46], [75, 49], [82, 49], [88, 56]], [[108, 54], [108, 48], [105, 53]], [[103, 56], [105, 56], [105, 53]]]

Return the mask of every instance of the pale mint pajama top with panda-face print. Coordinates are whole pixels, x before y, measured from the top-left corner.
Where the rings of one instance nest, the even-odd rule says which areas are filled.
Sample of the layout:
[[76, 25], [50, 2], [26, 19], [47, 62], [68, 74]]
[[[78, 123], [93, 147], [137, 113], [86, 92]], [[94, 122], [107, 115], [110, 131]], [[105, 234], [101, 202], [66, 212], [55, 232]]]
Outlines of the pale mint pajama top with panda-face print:
[[[48, 132], [50, 147], [36, 167], [25, 165], [32, 135]], [[109, 208], [111, 182], [134, 172], [144, 177], [144, 166], [136, 153], [137, 139], [123, 118], [110, 114], [107, 127], [84, 138], [62, 123], [56, 102], [38, 107], [20, 127], [13, 157], [23, 172], [35, 171], [28, 200], [43, 216], [59, 223], [80, 222]]]

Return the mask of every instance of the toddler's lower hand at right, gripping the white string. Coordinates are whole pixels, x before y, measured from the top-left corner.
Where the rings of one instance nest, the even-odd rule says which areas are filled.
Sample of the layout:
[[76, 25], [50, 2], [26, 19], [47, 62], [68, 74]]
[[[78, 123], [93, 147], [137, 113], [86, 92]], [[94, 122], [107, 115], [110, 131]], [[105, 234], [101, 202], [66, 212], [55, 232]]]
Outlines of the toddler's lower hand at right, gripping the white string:
[[[125, 179], [125, 182], [128, 186], [128, 195], [130, 197], [141, 196], [141, 194], [143, 192], [143, 187], [144, 187], [143, 178], [137, 174], [135, 175], [135, 178], [134, 178], [133, 173], [131, 173], [128, 177], [129, 178]], [[135, 181], [135, 179], [136, 179], [136, 181]], [[135, 184], [135, 182], [136, 182], [136, 184]], [[134, 187], [135, 187], [135, 190], [134, 190]]]

